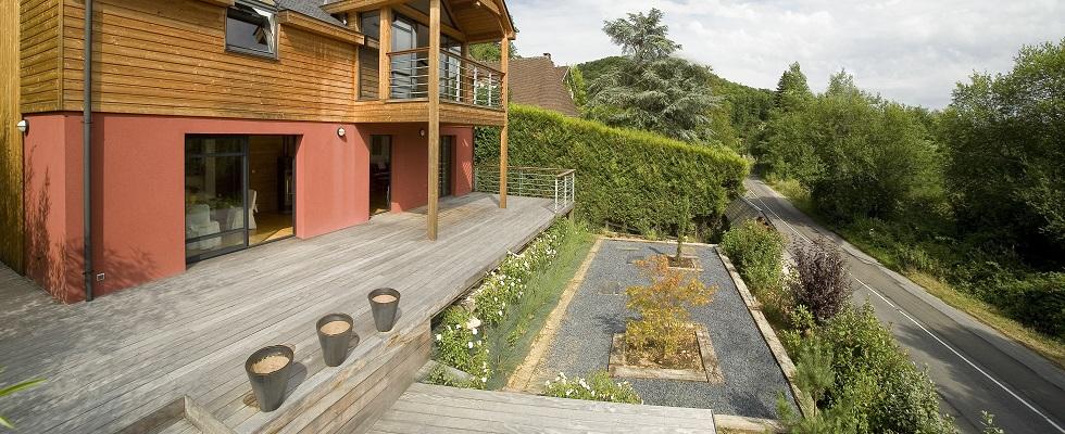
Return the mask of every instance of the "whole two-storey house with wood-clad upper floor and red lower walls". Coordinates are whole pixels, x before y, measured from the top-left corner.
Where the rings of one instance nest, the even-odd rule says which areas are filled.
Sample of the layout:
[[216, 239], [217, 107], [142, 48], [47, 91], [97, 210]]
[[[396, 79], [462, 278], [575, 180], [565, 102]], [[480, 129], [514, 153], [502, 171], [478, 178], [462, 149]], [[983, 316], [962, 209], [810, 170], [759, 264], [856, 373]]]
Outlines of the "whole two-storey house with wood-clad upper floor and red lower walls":
[[508, 62], [466, 56], [508, 50], [502, 0], [17, 8], [3, 17], [17, 52], [0, 59], [18, 65], [3, 88], [17, 113], [0, 114], [4, 175], [22, 184], [4, 220], [24, 231], [4, 228], [4, 257], [63, 302], [377, 213], [425, 206], [434, 240], [440, 197], [472, 190], [474, 126], [503, 127], [506, 166]]

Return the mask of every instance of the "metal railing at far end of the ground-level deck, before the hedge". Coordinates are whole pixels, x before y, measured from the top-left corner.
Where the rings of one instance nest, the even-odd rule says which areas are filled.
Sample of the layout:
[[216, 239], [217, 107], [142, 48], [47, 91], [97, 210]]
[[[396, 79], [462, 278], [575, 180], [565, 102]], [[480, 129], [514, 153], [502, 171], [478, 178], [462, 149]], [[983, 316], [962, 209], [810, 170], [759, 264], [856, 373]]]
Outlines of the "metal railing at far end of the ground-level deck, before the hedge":
[[[563, 212], [576, 201], [577, 170], [547, 167], [506, 168], [506, 194], [554, 200], [552, 210]], [[474, 169], [474, 191], [499, 193], [499, 164]]]

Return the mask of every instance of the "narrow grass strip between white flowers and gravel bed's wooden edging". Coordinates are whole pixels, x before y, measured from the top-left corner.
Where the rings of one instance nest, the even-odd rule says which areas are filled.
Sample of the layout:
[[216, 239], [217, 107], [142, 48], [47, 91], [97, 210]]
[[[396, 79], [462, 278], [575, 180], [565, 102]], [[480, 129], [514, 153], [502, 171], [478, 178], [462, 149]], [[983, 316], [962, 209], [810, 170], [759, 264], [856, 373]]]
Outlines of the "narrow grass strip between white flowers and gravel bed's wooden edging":
[[488, 390], [505, 386], [514, 370], [525, 361], [532, 339], [543, 328], [566, 284], [596, 242], [596, 237], [585, 228], [574, 225], [569, 230], [573, 232], [564, 238], [551, 265], [529, 279], [528, 295], [518, 302], [519, 305], [509, 309], [503, 320], [487, 333], [496, 369], [488, 381]]

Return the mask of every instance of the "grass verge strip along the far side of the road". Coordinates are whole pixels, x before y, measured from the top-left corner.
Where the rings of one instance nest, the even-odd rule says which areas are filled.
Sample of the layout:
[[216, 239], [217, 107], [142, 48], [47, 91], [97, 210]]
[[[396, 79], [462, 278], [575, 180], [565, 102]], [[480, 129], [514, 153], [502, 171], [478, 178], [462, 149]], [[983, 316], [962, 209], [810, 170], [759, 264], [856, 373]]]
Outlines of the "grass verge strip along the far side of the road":
[[844, 228], [839, 228], [835, 225], [827, 224], [825, 219], [820, 218], [814, 210], [813, 203], [810, 200], [810, 193], [802, 186], [800, 186], [798, 181], [773, 180], [768, 181], [768, 184], [774, 190], [788, 197], [788, 200], [797, 208], [799, 208], [799, 210], [802, 210], [818, 224], [836, 231], [836, 233], [847, 239], [848, 242], [860, 248], [862, 252], [865, 252], [867, 255], [876, 258], [880, 264], [904, 275], [914, 283], [924, 288], [929, 294], [942, 299], [944, 303], [954, 307], [955, 309], [973, 316], [978, 321], [991, 327], [994, 330], [998, 330], [1000, 333], [1020, 343], [1022, 345], [1056, 363], [1058, 367], [1065, 369], [1065, 342], [1062, 342], [1062, 340], [1050, 336], [1045, 333], [1040, 333], [1039, 331], [1036, 331], [1002, 315], [994, 306], [991, 306], [968, 293], [960, 291], [940, 278], [926, 272], [915, 271], [902, 267], [895, 260], [894, 256], [888, 252], [888, 250], [876, 245], [875, 243], [866, 242], [859, 237], [853, 237], [852, 234], [849, 234]]

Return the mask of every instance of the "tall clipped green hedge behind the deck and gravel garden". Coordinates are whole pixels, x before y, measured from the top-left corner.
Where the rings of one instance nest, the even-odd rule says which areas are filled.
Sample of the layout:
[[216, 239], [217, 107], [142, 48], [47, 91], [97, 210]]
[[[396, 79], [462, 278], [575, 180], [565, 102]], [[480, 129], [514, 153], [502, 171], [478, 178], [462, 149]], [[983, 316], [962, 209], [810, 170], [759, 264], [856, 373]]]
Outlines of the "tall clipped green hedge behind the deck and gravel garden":
[[[498, 132], [477, 133], [478, 163], [498, 161]], [[577, 209], [593, 225], [674, 232], [685, 199], [696, 221], [717, 221], [748, 174], [725, 148], [692, 145], [531, 106], [511, 105], [511, 166], [577, 169]]]

